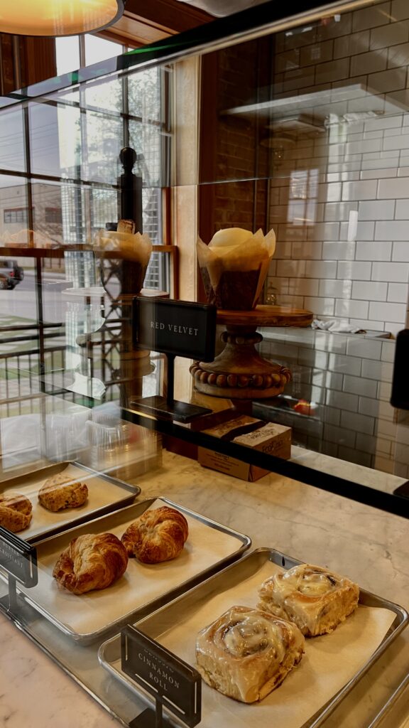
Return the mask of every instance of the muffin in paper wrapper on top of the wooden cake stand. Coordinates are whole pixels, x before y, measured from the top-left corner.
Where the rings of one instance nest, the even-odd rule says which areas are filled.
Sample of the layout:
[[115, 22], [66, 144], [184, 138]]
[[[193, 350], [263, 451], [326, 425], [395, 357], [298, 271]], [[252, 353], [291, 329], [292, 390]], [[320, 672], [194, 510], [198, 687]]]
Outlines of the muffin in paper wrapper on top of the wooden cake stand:
[[218, 309], [250, 311], [257, 305], [276, 247], [271, 229], [266, 235], [227, 228], [213, 235], [209, 245], [200, 238], [197, 258], [207, 300]]

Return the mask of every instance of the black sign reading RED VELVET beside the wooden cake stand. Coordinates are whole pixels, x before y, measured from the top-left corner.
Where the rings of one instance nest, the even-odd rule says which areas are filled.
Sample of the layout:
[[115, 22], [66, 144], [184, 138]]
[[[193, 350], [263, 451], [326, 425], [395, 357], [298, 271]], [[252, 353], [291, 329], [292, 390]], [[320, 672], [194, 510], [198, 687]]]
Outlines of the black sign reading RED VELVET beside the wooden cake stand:
[[210, 304], [134, 298], [134, 344], [164, 354], [212, 361], [216, 314], [216, 307]]

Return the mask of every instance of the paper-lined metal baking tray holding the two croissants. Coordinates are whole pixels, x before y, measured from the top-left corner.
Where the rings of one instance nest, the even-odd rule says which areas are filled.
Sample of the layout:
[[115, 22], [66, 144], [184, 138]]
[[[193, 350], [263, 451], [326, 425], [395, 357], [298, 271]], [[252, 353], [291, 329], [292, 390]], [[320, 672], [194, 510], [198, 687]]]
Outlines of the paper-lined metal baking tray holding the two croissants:
[[[188, 540], [177, 558], [156, 564], [144, 564], [131, 558], [123, 577], [111, 587], [81, 596], [57, 585], [52, 570], [71, 539], [81, 534], [106, 531], [120, 538], [130, 523], [147, 508], [162, 505], [180, 510], [188, 521]], [[39, 583], [30, 589], [17, 588], [34, 609], [63, 633], [87, 644], [167, 604], [238, 558], [250, 544], [250, 538], [244, 534], [221, 526], [167, 498], [149, 498], [38, 542]]]

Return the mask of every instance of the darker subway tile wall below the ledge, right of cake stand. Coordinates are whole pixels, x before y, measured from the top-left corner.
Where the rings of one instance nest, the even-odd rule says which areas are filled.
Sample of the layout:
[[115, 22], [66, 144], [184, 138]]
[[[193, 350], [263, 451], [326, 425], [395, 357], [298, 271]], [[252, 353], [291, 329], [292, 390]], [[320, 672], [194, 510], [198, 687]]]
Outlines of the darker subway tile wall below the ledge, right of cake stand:
[[[409, 478], [409, 427], [389, 403], [394, 339], [311, 329], [263, 330], [261, 355], [290, 368], [270, 416], [293, 428], [293, 443]], [[311, 404], [310, 416], [293, 410]]]

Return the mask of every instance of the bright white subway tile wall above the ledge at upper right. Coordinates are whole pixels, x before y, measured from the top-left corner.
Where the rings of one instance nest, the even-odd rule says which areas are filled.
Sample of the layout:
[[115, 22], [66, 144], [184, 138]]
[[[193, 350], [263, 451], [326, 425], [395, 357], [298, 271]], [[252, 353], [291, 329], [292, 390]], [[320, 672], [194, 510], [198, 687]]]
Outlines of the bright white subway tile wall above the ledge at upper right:
[[395, 335], [408, 322], [409, 0], [276, 43], [277, 98], [317, 131], [287, 127], [293, 146], [274, 167], [266, 290], [315, 317]]

